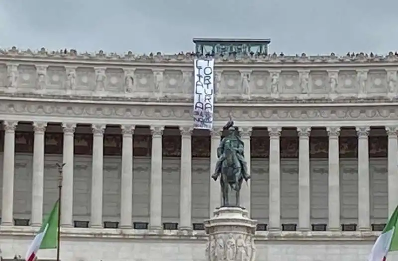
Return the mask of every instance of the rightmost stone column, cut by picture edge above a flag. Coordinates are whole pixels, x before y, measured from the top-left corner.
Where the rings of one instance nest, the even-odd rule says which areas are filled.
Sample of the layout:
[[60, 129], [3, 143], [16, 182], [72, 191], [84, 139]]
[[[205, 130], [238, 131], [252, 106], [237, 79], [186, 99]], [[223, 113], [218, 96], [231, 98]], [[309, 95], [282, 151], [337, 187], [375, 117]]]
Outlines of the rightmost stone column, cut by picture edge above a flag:
[[389, 217], [398, 205], [398, 127], [386, 127], [388, 135], [388, 209]]

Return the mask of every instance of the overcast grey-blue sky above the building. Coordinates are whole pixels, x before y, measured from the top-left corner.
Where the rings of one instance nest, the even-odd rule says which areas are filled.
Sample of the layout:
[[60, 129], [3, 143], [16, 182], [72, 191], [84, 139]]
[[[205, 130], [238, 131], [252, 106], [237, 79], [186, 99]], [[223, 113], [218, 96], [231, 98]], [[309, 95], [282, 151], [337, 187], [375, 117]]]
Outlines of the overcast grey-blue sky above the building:
[[271, 38], [270, 52], [398, 50], [398, 0], [0, 0], [0, 47], [191, 51], [195, 37]]

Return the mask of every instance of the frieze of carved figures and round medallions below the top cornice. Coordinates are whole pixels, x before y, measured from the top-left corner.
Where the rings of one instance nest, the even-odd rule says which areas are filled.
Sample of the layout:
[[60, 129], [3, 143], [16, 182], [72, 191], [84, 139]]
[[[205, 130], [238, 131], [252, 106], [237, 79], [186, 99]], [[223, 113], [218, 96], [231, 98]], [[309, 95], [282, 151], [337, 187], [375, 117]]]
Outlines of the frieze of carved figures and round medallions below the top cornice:
[[[19, 91], [34, 93], [36, 90], [46, 89], [48, 91], [44, 94], [52, 94], [56, 91], [55, 93], [60, 95], [79, 96], [91, 93], [94, 96], [103, 96], [105, 90], [111, 92], [112, 96], [123, 99], [126, 98], [123, 94], [132, 93], [131, 96], [137, 99], [185, 100], [192, 96], [194, 79], [192, 69], [188, 68], [165, 71], [160, 68], [137, 69], [135, 72], [130, 68], [90, 68], [79, 67], [78, 64], [63, 67], [50, 64], [45, 73], [44, 69], [39, 69], [43, 67], [42, 65], [37, 65], [38, 70], [35, 66], [17, 63], [7, 66], [7, 71], [4, 71], [6, 76], [3, 73], [1, 81], [6, 82], [2, 85], [9, 86], [4, 87], [4, 90], [12, 93]], [[318, 69], [312, 71], [310, 68], [283, 70], [281, 67], [277, 70], [264, 71], [217, 69], [214, 77], [217, 101], [267, 100], [270, 94], [272, 99], [281, 98], [283, 102], [292, 102], [296, 98], [304, 100], [371, 97], [396, 99], [397, 92], [397, 70], [384, 67], [372, 70], [356, 67], [348, 67], [344, 70], [336, 68], [327, 70], [327, 75], [325, 71]], [[162, 88], [159, 89], [159, 86]], [[137, 90], [133, 91], [133, 87]], [[157, 93], [156, 97], [151, 95], [154, 91]]]

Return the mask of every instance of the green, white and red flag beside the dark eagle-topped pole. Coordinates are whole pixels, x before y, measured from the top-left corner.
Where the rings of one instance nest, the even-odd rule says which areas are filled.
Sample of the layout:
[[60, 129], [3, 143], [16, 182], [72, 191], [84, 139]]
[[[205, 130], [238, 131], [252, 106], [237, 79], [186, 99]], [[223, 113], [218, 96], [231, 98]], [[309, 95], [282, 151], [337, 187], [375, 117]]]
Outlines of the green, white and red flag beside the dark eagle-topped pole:
[[34, 237], [26, 253], [26, 261], [34, 261], [39, 249], [56, 249], [58, 239], [58, 206], [59, 200], [55, 202], [53, 209], [44, 220], [39, 233]]

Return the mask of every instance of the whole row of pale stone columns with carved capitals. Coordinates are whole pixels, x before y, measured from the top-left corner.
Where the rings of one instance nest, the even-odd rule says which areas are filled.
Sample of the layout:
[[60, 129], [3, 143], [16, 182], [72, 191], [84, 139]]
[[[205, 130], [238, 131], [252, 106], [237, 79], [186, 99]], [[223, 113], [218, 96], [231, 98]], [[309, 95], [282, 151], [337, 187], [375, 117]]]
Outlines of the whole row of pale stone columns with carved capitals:
[[[17, 122], [5, 121], [4, 124], [4, 161], [1, 225], [13, 224], [13, 188], [14, 188], [14, 151], [15, 128]], [[43, 216], [44, 194], [44, 134], [47, 123], [33, 123], [33, 182], [32, 182], [32, 216], [31, 224], [40, 226]], [[76, 124], [63, 123], [63, 190], [61, 207], [61, 226], [73, 226], [73, 172], [74, 172], [74, 131]], [[92, 125], [92, 195], [91, 220], [92, 228], [102, 227], [103, 198], [103, 134], [106, 125]], [[122, 131], [122, 172], [120, 228], [132, 228], [132, 188], [133, 188], [133, 134], [135, 126], [121, 126]], [[150, 173], [150, 218], [149, 229], [162, 229], [162, 135], [164, 126], [151, 126], [152, 156]], [[192, 131], [190, 127], [180, 127], [181, 145], [181, 178], [180, 178], [180, 220], [179, 229], [192, 229]], [[240, 129], [245, 144], [245, 157], [250, 173], [250, 138], [252, 128]], [[282, 128], [269, 127], [269, 224], [270, 231], [281, 229], [281, 159], [280, 137]], [[310, 224], [310, 171], [309, 171], [309, 135], [311, 128], [298, 128], [299, 137], [299, 214], [298, 230], [311, 229]], [[340, 128], [327, 127], [329, 138], [328, 149], [328, 229], [340, 230], [340, 174], [339, 174], [339, 134]], [[369, 184], [369, 131], [370, 127], [356, 127], [358, 134], [358, 227], [359, 230], [370, 230], [370, 184]], [[391, 214], [398, 205], [398, 128], [386, 127], [388, 134], [388, 208]], [[215, 169], [217, 162], [216, 149], [220, 143], [221, 130], [211, 131], [210, 169]], [[210, 180], [209, 216], [220, 204], [218, 182]], [[250, 211], [250, 182], [241, 193], [241, 204]]]

